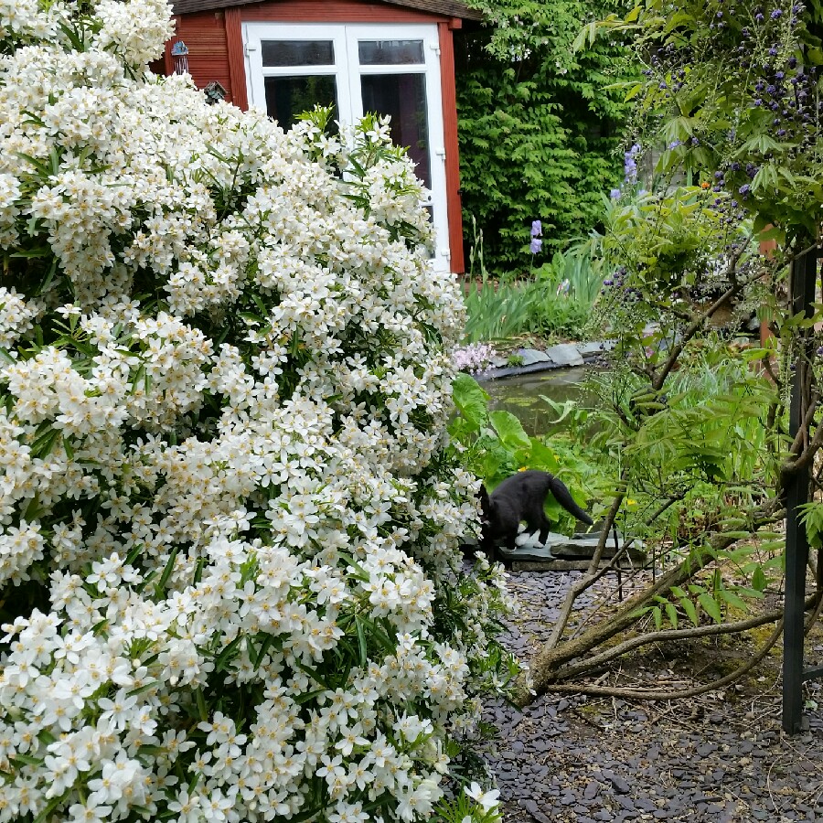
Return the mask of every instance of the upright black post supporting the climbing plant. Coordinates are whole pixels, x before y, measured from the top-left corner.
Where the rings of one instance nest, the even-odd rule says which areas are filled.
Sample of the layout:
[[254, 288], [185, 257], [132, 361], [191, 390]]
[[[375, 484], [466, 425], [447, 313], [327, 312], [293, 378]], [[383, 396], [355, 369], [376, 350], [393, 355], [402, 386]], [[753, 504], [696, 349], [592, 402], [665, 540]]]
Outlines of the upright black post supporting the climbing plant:
[[[817, 250], [807, 252], [792, 263], [792, 313], [813, 314]], [[798, 353], [792, 379], [789, 410], [789, 438], [794, 439], [803, 422], [803, 387], [807, 372], [807, 344]], [[797, 471], [786, 486], [786, 603], [783, 627], [783, 728], [789, 734], [803, 730], [803, 617], [806, 599], [808, 540], [800, 522], [800, 509], [808, 502], [810, 468]]]

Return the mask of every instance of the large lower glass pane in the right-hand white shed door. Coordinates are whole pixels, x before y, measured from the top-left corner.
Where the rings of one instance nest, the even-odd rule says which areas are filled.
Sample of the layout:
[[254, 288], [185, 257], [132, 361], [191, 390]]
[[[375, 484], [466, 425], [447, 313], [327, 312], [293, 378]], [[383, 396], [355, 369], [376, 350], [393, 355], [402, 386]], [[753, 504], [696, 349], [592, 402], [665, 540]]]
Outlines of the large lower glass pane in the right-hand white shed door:
[[424, 74], [366, 74], [360, 78], [363, 111], [390, 114], [391, 140], [408, 148], [417, 164], [417, 176], [431, 188], [425, 83]]

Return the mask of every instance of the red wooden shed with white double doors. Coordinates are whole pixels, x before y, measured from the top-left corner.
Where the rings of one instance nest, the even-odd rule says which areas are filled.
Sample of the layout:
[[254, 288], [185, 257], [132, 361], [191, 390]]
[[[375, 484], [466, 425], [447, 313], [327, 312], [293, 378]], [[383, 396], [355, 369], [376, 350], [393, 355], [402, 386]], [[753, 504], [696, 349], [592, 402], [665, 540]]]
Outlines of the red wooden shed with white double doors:
[[[391, 115], [432, 191], [434, 264], [464, 271], [454, 92], [454, 29], [480, 13], [455, 0], [176, 0], [176, 35], [198, 87], [217, 81], [226, 99], [266, 110], [288, 127], [315, 102], [351, 122]], [[177, 46], [176, 50], [180, 50]]]

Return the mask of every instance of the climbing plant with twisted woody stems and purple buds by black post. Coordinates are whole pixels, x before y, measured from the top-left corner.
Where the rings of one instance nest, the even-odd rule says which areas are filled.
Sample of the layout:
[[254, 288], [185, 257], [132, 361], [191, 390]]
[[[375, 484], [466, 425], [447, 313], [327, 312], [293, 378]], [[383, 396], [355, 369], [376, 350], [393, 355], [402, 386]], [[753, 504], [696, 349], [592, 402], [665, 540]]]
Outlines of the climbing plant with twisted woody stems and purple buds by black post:
[[[624, 86], [633, 102], [629, 154], [632, 166], [652, 157], [656, 175], [647, 192], [615, 190], [605, 230], [591, 240], [615, 269], [601, 305], [618, 356], [600, 392], [615, 495], [601, 509], [595, 558], [532, 666], [538, 693], [689, 697], [741, 678], [781, 636], [782, 611], [752, 602], [781, 574], [775, 524], [786, 515], [785, 489], [814, 468], [823, 445], [823, 315], [819, 305], [793, 313], [786, 277], [820, 233], [821, 10], [818, 2], [646, 0], [575, 40], [587, 49], [603, 32], [634, 38], [644, 67]], [[763, 240], [776, 249], [764, 251]], [[734, 340], [751, 309], [771, 333], [760, 349]], [[803, 424], [789, 436], [795, 374]], [[812, 475], [823, 487], [819, 470]], [[645, 511], [632, 513], [633, 501]], [[813, 525], [816, 515], [807, 510]], [[608, 530], [624, 516], [649, 536], [656, 524], [673, 526], [667, 564], [573, 636], [576, 604], [602, 578]], [[821, 604], [819, 591], [807, 600], [815, 609], [807, 625]], [[645, 644], [767, 623], [774, 629], [759, 650], [713, 683], [672, 693], [580, 682]]]

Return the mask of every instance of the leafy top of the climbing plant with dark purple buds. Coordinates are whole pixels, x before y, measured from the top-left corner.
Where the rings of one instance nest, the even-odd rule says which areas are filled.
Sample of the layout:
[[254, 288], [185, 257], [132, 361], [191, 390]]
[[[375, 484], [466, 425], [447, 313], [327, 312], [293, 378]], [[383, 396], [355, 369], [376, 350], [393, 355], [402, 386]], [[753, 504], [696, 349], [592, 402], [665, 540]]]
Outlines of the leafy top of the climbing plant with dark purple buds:
[[658, 176], [711, 180], [780, 245], [818, 235], [820, 0], [647, 0], [587, 27], [578, 45], [598, 32], [636, 38], [644, 80], [628, 96], [635, 136], [662, 149]]

